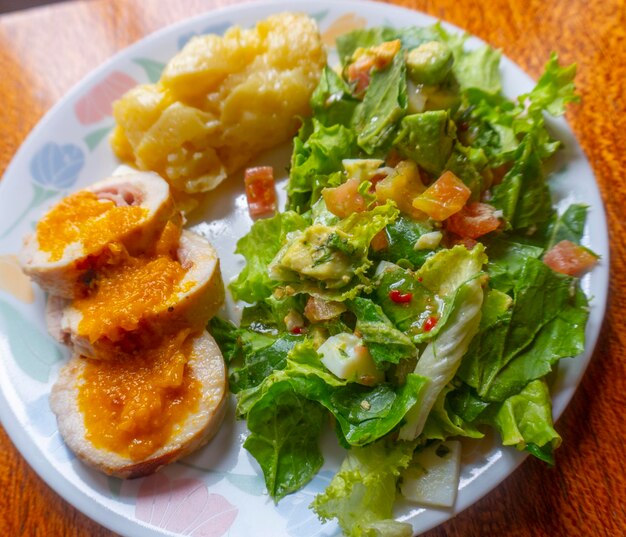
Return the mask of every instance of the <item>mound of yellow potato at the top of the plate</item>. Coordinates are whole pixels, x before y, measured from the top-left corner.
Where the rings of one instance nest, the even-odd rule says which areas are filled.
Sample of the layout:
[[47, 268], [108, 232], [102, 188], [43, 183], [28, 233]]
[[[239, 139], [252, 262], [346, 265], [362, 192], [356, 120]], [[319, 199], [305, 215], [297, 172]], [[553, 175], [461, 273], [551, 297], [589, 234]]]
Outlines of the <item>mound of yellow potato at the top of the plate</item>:
[[114, 103], [113, 150], [179, 193], [211, 190], [295, 134], [325, 63], [315, 22], [302, 14], [195, 37], [157, 84]]

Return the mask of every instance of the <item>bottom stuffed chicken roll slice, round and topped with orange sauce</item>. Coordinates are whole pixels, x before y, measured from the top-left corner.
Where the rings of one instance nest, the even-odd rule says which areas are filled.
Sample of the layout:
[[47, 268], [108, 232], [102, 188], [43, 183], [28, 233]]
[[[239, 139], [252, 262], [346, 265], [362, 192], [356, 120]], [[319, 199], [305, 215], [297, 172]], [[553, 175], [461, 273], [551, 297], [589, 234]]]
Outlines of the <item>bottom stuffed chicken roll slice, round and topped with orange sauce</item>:
[[83, 462], [109, 475], [140, 477], [215, 435], [225, 413], [226, 367], [206, 331], [188, 334], [106, 362], [74, 355], [61, 369], [50, 406]]

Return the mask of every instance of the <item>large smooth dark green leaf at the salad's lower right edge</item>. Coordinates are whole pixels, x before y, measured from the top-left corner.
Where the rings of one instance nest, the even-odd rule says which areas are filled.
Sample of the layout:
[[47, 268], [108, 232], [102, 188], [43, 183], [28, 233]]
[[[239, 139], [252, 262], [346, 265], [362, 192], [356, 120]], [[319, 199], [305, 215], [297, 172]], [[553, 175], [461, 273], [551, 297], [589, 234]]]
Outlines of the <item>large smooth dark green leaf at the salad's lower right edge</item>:
[[[578, 354], [587, 312], [586, 299], [574, 285], [573, 278], [527, 258], [514, 287], [512, 307], [492, 313], [493, 324], [481, 327], [459, 377], [483, 399], [501, 401], [545, 375], [558, 359]], [[515, 360], [519, 362], [504, 372]]]

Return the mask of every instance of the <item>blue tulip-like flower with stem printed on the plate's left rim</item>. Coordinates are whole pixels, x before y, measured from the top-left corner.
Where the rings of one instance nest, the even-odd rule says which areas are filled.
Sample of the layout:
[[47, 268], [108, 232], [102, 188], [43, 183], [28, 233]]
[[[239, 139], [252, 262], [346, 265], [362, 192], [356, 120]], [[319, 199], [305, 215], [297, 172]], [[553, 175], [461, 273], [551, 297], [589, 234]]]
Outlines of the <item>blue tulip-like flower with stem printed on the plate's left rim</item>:
[[84, 165], [85, 154], [80, 147], [74, 144], [59, 145], [54, 142], [45, 144], [30, 161], [33, 198], [0, 238], [11, 233], [35, 207], [60, 191], [71, 187], [78, 179]]

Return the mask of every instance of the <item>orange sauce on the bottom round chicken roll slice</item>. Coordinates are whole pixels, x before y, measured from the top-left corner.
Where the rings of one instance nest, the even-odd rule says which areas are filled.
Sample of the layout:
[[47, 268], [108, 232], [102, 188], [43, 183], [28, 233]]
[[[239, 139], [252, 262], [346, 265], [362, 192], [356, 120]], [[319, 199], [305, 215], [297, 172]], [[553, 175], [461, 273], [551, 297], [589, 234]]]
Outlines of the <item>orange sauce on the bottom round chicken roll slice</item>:
[[201, 397], [188, 364], [188, 334], [183, 330], [154, 349], [115, 360], [88, 360], [78, 388], [87, 440], [132, 460], [167, 443]]

